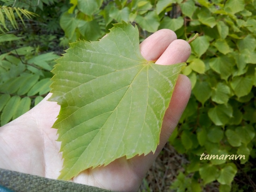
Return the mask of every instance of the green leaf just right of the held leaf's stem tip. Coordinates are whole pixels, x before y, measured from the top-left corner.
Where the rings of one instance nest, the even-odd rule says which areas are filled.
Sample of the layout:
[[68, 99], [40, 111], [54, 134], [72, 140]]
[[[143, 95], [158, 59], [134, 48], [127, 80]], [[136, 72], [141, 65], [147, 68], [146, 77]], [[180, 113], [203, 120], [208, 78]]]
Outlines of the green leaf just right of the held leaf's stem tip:
[[206, 36], [199, 36], [190, 45], [196, 55], [201, 57], [207, 51], [210, 43]]

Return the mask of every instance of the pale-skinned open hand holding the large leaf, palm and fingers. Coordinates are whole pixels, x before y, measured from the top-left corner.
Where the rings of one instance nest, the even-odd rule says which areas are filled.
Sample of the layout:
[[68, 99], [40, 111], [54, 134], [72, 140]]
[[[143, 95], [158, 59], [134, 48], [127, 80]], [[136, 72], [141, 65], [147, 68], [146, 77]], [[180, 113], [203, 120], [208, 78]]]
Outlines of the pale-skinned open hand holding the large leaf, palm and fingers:
[[[140, 44], [141, 54], [147, 60], [168, 65], [186, 62], [190, 46], [177, 40], [176, 34], [162, 29]], [[188, 77], [178, 77], [169, 108], [164, 116], [160, 144], [155, 153], [122, 157], [107, 166], [81, 172], [71, 181], [114, 191], [137, 191], [143, 177], [153, 164], [164, 144], [176, 127], [190, 97], [191, 84]], [[60, 106], [49, 102], [48, 94], [36, 107], [0, 128], [0, 168], [57, 179], [63, 159], [57, 130], [52, 125]]]

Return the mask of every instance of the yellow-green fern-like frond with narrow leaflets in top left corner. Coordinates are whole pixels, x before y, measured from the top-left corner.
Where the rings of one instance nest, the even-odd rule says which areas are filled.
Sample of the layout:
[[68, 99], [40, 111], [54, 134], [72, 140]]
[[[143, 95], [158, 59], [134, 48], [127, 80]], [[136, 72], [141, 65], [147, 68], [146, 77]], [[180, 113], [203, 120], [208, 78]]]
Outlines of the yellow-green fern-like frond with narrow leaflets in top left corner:
[[25, 26], [25, 23], [22, 19], [21, 15], [24, 15], [27, 19], [32, 19], [32, 16], [38, 16], [37, 14], [27, 11], [26, 9], [21, 9], [17, 7], [7, 7], [7, 6], [0, 6], [0, 31], [4, 33], [4, 30], [1, 28], [1, 25], [5, 28], [5, 30], [9, 31], [5, 24], [5, 16], [7, 20], [9, 20], [14, 29], [18, 29], [18, 24], [16, 22], [16, 18], [14, 12], [18, 15], [21, 22]]

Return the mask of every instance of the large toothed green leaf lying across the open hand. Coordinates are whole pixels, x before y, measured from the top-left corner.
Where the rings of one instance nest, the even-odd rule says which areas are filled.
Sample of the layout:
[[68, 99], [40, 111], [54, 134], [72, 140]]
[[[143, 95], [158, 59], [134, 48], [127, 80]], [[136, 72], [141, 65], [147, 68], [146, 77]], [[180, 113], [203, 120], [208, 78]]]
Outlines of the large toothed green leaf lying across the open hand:
[[117, 158], [155, 151], [164, 113], [186, 63], [163, 66], [140, 54], [137, 27], [122, 22], [96, 42], [77, 41], [53, 69], [49, 101], [61, 105], [59, 179]]

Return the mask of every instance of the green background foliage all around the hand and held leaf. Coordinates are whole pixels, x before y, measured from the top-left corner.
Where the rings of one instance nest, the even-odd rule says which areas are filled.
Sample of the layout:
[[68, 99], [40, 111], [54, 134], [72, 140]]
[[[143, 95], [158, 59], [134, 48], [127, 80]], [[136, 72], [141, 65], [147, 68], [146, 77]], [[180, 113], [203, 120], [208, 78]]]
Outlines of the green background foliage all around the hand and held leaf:
[[[69, 42], [96, 41], [121, 20], [138, 26], [140, 41], [162, 28], [185, 40], [197, 32], [182, 71], [192, 95], [170, 137], [189, 163], [170, 190], [202, 191], [211, 183], [219, 191], [256, 190], [255, 0], [1, 0], [0, 6], [1, 125], [47, 94], [54, 59]], [[245, 160], [200, 160], [202, 153]], [[142, 191], [150, 191], [147, 185]]]

